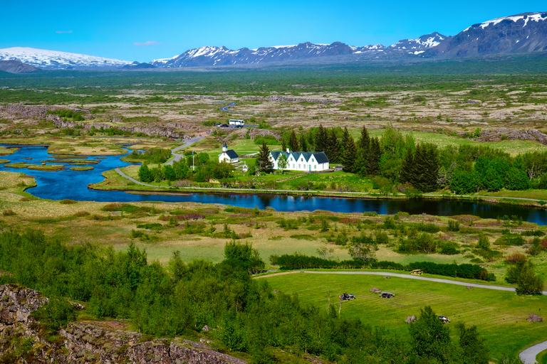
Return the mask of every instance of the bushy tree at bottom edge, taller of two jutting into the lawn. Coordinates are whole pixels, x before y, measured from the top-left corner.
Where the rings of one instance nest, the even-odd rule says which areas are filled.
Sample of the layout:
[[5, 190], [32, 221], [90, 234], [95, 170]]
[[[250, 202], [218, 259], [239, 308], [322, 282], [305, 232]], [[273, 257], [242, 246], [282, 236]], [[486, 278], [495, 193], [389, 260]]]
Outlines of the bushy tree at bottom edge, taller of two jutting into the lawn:
[[420, 318], [410, 324], [409, 331], [412, 355], [421, 359], [434, 358], [440, 363], [448, 362], [450, 331], [430, 306], [420, 309]]

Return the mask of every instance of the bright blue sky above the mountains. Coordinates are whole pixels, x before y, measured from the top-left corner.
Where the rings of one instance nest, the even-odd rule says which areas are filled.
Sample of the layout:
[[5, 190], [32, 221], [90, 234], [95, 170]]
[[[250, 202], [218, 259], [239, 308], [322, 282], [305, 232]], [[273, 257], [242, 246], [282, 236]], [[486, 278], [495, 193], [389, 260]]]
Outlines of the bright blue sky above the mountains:
[[0, 48], [32, 47], [148, 62], [203, 45], [258, 48], [311, 41], [390, 45], [454, 35], [500, 16], [547, 11], [545, 0], [7, 1]]

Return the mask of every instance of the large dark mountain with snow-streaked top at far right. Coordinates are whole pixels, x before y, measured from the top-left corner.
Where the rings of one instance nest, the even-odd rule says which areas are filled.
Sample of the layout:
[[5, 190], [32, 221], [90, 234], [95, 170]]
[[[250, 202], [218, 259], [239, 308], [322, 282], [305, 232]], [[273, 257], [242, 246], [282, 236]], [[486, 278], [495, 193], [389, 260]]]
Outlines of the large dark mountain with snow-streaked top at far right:
[[437, 47], [427, 58], [464, 58], [547, 50], [547, 13], [524, 13], [492, 19], [465, 28]]

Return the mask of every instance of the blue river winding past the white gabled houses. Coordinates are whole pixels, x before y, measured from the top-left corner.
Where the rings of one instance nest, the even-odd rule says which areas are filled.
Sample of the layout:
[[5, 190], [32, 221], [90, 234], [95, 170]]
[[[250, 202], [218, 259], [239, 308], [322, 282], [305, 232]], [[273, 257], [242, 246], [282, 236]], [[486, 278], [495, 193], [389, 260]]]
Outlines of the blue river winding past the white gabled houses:
[[[360, 199], [360, 198], [325, 198], [303, 196], [276, 196], [267, 194], [240, 195], [236, 193], [189, 193], [187, 196], [166, 195], [138, 195], [123, 191], [98, 191], [88, 188], [90, 183], [103, 181], [101, 173], [109, 171], [117, 166], [128, 166], [130, 163], [120, 161], [121, 156], [88, 156], [88, 160], [100, 161], [98, 164], [89, 164], [94, 169], [90, 171], [58, 172], [32, 171], [26, 168], [9, 168], [0, 164], [0, 171], [14, 171], [26, 173], [36, 179], [38, 186], [29, 188], [27, 192], [38, 198], [51, 200], [89, 200], [100, 202], [133, 202], [133, 201], [165, 201], [219, 203], [246, 208], [264, 209], [274, 208], [278, 211], [313, 211], [328, 210], [338, 213], [363, 213], [365, 211], [379, 214], [394, 214], [400, 211], [411, 215], [427, 213], [428, 215], [476, 215], [481, 218], [497, 218], [504, 215], [517, 215], [523, 220], [547, 225], [547, 211], [538, 208], [523, 206], [476, 203], [459, 200], [393, 200], [393, 199]], [[41, 164], [42, 161], [53, 160], [46, 148], [30, 147], [21, 148], [9, 156], [1, 156], [1, 159], [9, 159], [10, 163]], [[82, 159], [85, 161], [85, 159]], [[48, 162], [47, 164], [51, 164]], [[69, 167], [68, 164], [63, 164]]]

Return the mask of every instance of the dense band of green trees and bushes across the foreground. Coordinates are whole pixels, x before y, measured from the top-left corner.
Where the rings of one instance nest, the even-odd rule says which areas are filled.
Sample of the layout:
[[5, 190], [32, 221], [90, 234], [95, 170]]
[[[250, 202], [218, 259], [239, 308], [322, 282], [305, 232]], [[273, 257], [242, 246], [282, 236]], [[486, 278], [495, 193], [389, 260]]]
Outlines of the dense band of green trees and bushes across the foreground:
[[425, 307], [406, 336], [390, 336], [374, 323], [343, 319], [328, 310], [276, 293], [249, 271], [264, 262], [251, 245], [227, 242], [218, 264], [188, 264], [174, 252], [167, 269], [148, 262], [145, 250], [64, 245], [42, 232], [0, 233], [0, 284], [16, 283], [50, 298], [36, 316], [55, 331], [75, 318], [68, 299], [85, 301], [98, 318], [129, 319], [141, 333], [172, 338], [204, 325], [224, 350], [249, 353], [251, 363], [276, 363], [273, 348], [308, 353], [338, 363], [487, 364], [489, 353], [475, 326], [457, 336]]

